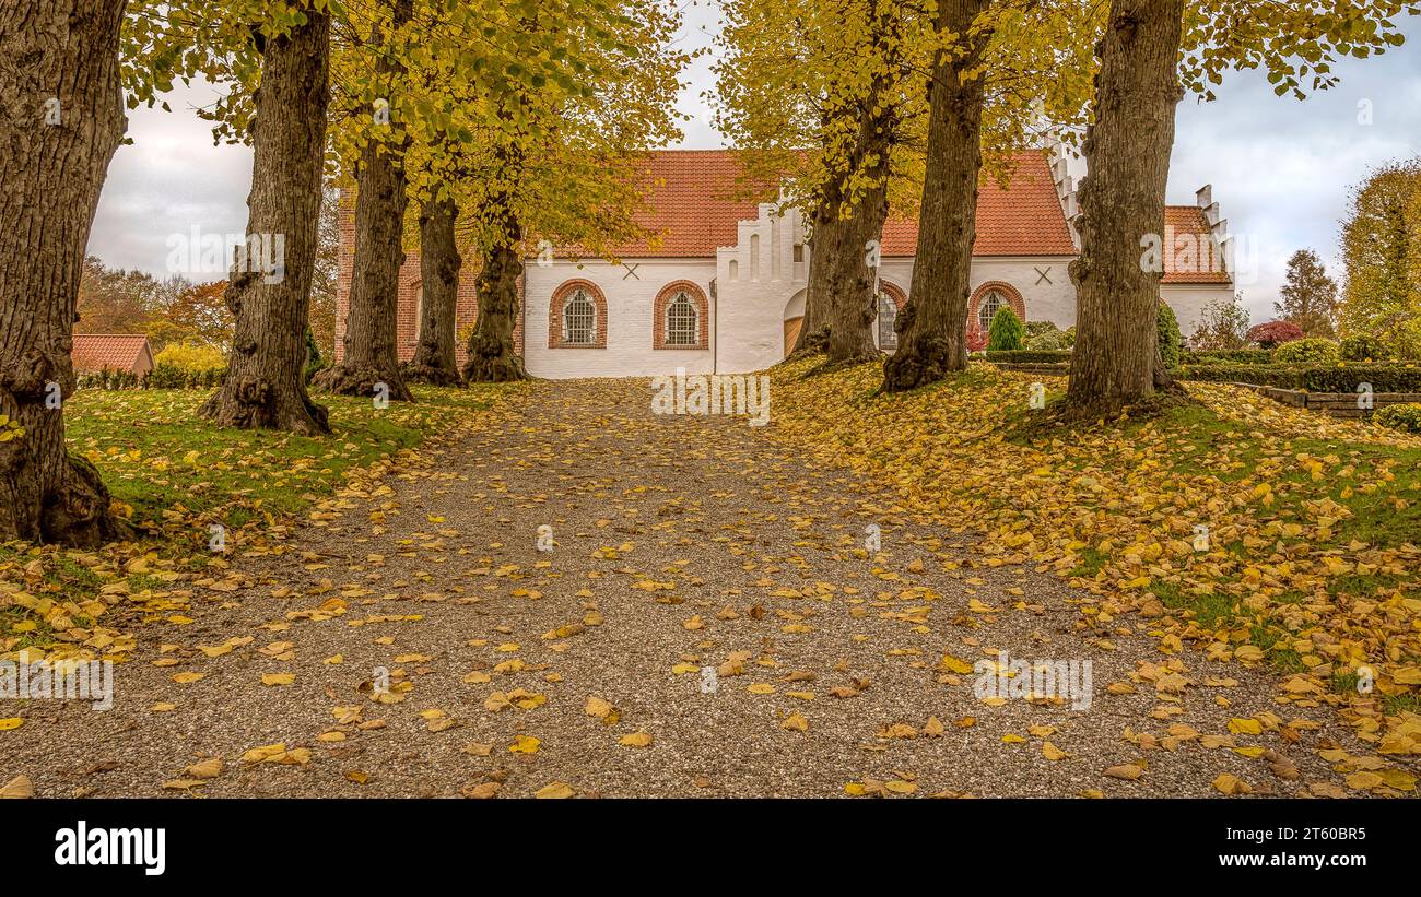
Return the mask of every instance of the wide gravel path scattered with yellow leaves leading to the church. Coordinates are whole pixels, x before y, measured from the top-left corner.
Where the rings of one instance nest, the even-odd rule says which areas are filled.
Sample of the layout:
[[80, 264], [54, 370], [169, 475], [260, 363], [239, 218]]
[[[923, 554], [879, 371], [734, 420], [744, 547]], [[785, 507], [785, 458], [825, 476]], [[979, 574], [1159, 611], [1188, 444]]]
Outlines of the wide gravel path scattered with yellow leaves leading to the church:
[[[196, 586], [193, 623], [139, 627], [112, 710], [0, 701], [0, 717], [26, 718], [0, 732], [0, 783], [26, 775], [38, 796], [1218, 796], [1223, 774], [1253, 793], [1343, 786], [1319, 749], [1356, 749], [1350, 731], [1326, 707], [1275, 704], [1266, 671], [1161, 653], [1148, 620], [1086, 629], [1087, 596], [1056, 576], [989, 566], [971, 534], [901, 519], [872, 484], [807, 468], [743, 419], [654, 416], [649, 399], [645, 380], [534, 383], [436, 441], [436, 467], [327, 502], [286, 554], [234, 559], [234, 590]], [[971, 664], [998, 651], [1091, 661], [1088, 710], [978, 700]], [[713, 691], [702, 667], [718, 668]], [[1229, 731], [1250, 717], [1260, 734]]]

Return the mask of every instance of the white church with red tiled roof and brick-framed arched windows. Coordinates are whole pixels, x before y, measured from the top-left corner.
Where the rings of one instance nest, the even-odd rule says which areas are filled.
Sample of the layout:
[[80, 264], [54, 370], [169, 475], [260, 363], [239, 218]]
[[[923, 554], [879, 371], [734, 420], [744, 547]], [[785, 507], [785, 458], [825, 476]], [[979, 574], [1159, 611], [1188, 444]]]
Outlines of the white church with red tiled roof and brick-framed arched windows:
[[[526, 260], [522, 318], [514, 339], [529, 373], [539, 378], [746, 373], [784, 358], [804, 315], [813, 263], [804, 221], [773, 203], [733, 199], [739, 166], [730, 150], [664, 150], [649, 155], [648, 209], [641, 223], [655, 240], [618, 248], [620, 261]], [[1076, 322], [1067, 267], [1080, 248], [1071, 221], [1079, 211], [1067, 160], [1047, 150], [1016, 158], [1003, 189], [986, 179], [978, 203], [969, 321], [988, 329], [1010, 305], [1023, 321]], [[1199, 190], [1195, 206], [1167, 210], [1164, 280], [1185, 335], [1202, 308], [1233, 297], [1225, 263], [1226, 223]], [[881, 240], [881, 302], [875, 339], [895, 348], [894, 317], [912, 282], [917, 221], [890, 219]], [[342, 221], [337, 353], [348, 302], [354, 221]], [[1144, 250], [1142, 250], [1144, 251]], [[475, 273], [459, 288], [459, 355], [476, 314]], [[414, 355], [419, 321], [419, 255], [401, 271], [399, 351]]]

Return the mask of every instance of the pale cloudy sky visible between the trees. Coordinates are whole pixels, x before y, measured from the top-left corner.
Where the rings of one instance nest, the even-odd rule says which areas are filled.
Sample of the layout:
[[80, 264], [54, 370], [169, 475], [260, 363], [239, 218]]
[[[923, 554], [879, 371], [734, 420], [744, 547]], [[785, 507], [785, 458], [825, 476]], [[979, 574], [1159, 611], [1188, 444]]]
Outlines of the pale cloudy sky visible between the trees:
[[[709, 47], [719, 27], [712, 0], [684, 1], [679, 45]], [[1341, 274], [1339, 223], [1349, 187], [1394, 159], [1421, 153], [1421, 27], [1405, 21], [1410, 41], [1373, 60], [1334, 67], [1341, 85], [1306, 102], [1273, 95], [1263, 75], [1233, 72], [1219, 99], [1179, 106], [1178, 136], [1169, 176], [1169, 202], [1192, 203], [1194, 192], [1214, 185], [1214, 199], [1239, 240], [1239, 290], [1253, 321], [1272, 317], [1287, 257], [1317, 250], [1327, 270]], [[723, 146], [710, 125], [705, 91], [715, 85], [712, 60], [699, 58], [685, 74], [681, 146]], [[128, 136], [108, 172], [90, 253], [111, 267], [168, 274], [169, 237], [202, 233], [240, 234], [252, 155], [240, 146], [213, 146], [212, 132], [190, 106], [210, 92], [179, 92], [173, 112], [129, 112]], [[1370, 104], [1363, 123], [1358, 104]], [[206, 278], [219, 277], [217, 274]]]

